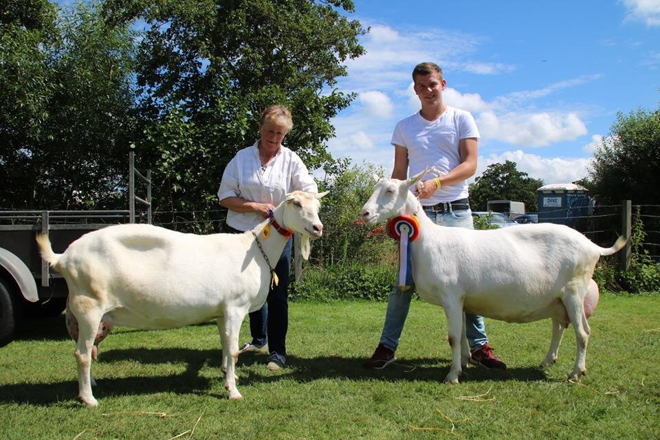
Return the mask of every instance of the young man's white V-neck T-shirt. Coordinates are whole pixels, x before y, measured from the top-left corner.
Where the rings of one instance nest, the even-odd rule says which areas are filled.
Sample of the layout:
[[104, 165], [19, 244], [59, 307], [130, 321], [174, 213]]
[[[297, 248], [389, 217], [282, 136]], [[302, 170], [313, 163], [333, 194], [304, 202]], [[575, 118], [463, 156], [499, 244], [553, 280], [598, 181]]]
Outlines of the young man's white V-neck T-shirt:
[[[400, 120], [392, 135], [392, 144], [408, 149], [408, 177], [435, 166], [446, 174], [459, 166], [459, 140], [481, 137], [469, 111], [447, 107], [437, 120], [428, 121], [417, 113]], [[430, 179], [427, 175], [424, 179]], [[423, 199], [424, 206], [465, 199], [467, 181], [442, 186], [434, 195]]]

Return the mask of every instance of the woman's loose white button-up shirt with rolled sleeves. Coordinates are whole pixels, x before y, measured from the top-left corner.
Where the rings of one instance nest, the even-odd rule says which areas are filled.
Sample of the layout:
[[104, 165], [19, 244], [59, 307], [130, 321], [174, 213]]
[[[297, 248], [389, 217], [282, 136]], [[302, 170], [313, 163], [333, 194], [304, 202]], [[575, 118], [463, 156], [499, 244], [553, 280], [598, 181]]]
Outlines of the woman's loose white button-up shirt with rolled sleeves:
[[[225, 168], [218, 199], [241, 197], [259, 203], [278, 206], [289, 192], [295, 190], [318, 192], [314, 177], [309, 175], [303, 160], [285, 146], [281, 146], [274, 159], [261, 169], [259, 141], [243, 148], [230, 160]], [[232, 228], [247, 231], [264, 220], [256, 212], [227, 213], [227, 224]]]

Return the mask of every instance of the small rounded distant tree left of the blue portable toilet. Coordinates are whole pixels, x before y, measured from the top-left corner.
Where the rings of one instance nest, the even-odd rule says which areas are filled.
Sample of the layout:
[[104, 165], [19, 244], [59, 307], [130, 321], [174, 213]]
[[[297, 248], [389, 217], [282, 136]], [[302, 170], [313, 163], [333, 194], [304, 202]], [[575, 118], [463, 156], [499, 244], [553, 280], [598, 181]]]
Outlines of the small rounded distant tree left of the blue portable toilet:
[[470, 184], [470, 204], [473, 210], [485, 210], [489, 200], [513, 200], [525, 203], [525, 211], [538, 212], [536, 190], [542, 179], [533, 179], [516, 169], [516, 162], [491, 164]]

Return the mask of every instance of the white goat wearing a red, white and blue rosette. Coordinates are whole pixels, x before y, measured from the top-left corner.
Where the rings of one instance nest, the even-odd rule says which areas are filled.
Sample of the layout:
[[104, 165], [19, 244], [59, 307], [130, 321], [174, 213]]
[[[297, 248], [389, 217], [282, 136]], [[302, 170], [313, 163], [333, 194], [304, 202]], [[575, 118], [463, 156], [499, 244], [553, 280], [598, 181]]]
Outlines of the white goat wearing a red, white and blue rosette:
[[470, 359], [464, 312], [507, 322], [551, 318], [552, 341], [542, 366], [557, 360], [564, 328], [570, 322], [575, 327], [577, 355], [569, 380], [579, 380], [586, 373], [591, 333], [585, 300], [591, 311], [597, 302], [597, 286], [591, 280], [594, 267], [600, 256], [617, 252], [626, 240], [619, 237], [612, 248], [601, 248], [580, 232], [552, 223], [498, 230], [439, 226], [423, 213], [409, 190], [425, 174], [426, 170], [408, 180], [374, 176], [377, 184], [364, 203], [362, 219], [377, 223], [398, 215], [417, 215], [420, 234], [410, 243], [412, 278], [423, 300], [445, 310], [452, 348], [445, 382], [458, 383], [461, 366]]

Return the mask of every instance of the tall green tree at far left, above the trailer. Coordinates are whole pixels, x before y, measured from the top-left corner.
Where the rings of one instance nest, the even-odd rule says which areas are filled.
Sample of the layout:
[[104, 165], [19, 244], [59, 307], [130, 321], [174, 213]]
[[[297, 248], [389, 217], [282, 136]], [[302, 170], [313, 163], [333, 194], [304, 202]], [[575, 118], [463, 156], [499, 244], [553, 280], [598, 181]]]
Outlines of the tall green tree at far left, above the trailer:
[[96, 3], [12, 0], [0, 17], [0, 206], [125, 206], [132, 33]]

